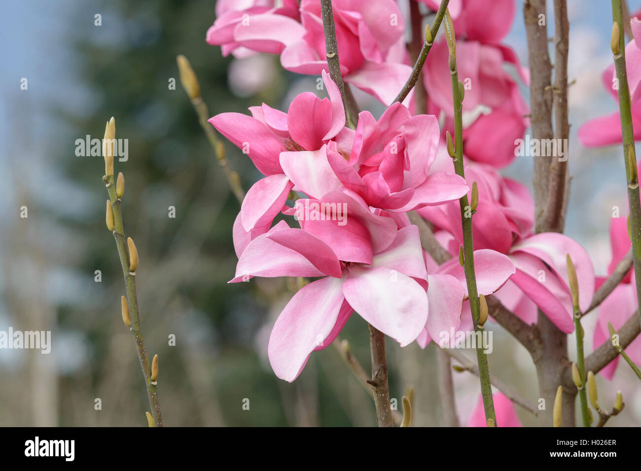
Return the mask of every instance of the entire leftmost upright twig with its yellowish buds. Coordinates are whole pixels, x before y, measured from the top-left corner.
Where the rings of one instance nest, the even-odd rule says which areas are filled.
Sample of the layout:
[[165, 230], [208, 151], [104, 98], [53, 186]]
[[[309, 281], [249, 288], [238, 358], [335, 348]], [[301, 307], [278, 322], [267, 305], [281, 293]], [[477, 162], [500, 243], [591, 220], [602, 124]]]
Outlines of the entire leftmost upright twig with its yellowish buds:
[[[118, 248], [118, 254], [122, 265], [122, 274], [124, 276], [124, 281], [127, 288], [127, 306], [122, 306], [122, 317], [125, 322], [126, 317], [129, 317], [129, 322], [126, 322], [126, 324], [130, 324], [129, 327], [131, 330], [131, 336], [133, 336], [133, 341], [136, 345], [136, 351], [138, 352], [140, 367], [142, 368], [142, 374], [145, 378], [147, 396], [149, 396], [149, 404], [151, 404], [151, 414], [153, 415], [153, 421], [156, 427], [162, 427], [163, 422], [162, 414], [160, 413], [160, 402], [158, 401], [158, 393], [156, 392], [157, 381], [154, 381], [151, 378], [152, 372], [149, 365], [149, 358], [147, 357], [147, 350], [145, 349], [145, 342], [142, 338], [142, 329], [140, 327], [140, 311], [138, 311], [138, 295], [136, 293], [135, 273], [138, 265], [138, 252], [135, 249], [135, 245], [133, 245], [133, 241], [129, 243], [128, 239], [125, 237], [124, 224], [122, 222], [121, 197], [122, 193], [124, 192], [124, 177], [121, 178], [122, 174], [119, 176], [118, 192], [116, 190], [116, 185], [113, 179], [114, 139], [115, 121], [112, 118], [112, 120], [107, 124], [107, 130], [105, 131], [103, 140], [103, 153], [105, 158], [105, 175], [103, 176], [103, 181], [109, 194], [109, 200], [111, 203], [110, 208], [112, 209], [111, 217], [109, 214], [110, 211], [107, 210], [107, 225], [109, 227], [111, 222], [110, 229], [112, 229], [113, 238], [116, 241], [116, 246]], [[106, 143], [106, 145], [104, 143]], [[129, 245], [131, 245], [131, 250], [129, 249]], [[131, 264], [131, 260], [134, 260], [133, 265]]]

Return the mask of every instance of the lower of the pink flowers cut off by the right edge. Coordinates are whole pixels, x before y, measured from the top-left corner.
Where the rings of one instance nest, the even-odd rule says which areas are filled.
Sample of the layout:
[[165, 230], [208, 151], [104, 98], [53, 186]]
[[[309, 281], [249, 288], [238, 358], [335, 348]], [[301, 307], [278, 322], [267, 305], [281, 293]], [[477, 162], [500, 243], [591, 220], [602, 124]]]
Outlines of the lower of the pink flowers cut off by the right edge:
[[[610, 266], [608, 267], [608, 275], [612, 274], [617, 264], [624, 258], [632, 245], [628, 236], [626, 218], [613, 218], [610, 222], [610, 245], [612, 246], [612, 261], [610, 261]], [[600, 285], [603, 281], [605, 281], [605, 278], [600, 278], [597, 284]], [[601, 306], [599, 306], [599, 317], [597, 318], [597, 325], [594, 328], [594, 336], [592, 337], [593, 347], [597, 348], [597, 346], [603, 342], [610, 342], [608, 322], [612, 323], [615, 330], [620, 329], [637, 308], [638, 300], [635, 273], [633, 269], [630, 269], [622, 282], [614, 288], [612, 293], [610, 293], [610, 295], [601, 302]], [[637, 365], [641, 363], [641, 337], [635, 338], [635, 340], [626, 347], [626, 353]], [[612, 379], [617, 365], [619, 365], [619, 356], [610, 361], [610, 363], [601, 370], [601, 375], [607, 379]]]

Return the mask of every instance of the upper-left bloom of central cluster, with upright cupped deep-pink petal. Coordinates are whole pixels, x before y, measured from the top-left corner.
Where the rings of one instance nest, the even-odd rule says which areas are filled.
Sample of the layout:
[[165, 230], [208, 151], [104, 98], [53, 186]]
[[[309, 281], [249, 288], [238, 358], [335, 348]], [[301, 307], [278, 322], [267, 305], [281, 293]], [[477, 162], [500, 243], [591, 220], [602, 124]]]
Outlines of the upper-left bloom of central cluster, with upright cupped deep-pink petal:
[[[300, 151], [297, 152], [297, 161], [290, 161], [287, 158], [289, 154], [285, 153], [285, 168], [290, 169], [319, 160], [319, 153], [324, 153], [321, 149], [331, 139], [337, 141], [337, 149], [351, 147], [354, 131], [345, 128], [345, 110], [338, 87], [324, 71], [322, 78], [329, 99], [320, 99], [312, 92], [305, 92], [294, 98], [287, 113], [263, 103], [263, 106], [249, 108], [251, 117], [241, 113], [221, 113], [209, 120], [222, 135], [243, 149], [265, 175], [254, 183], [242, 202], [239, 220], [244, 231], [260, 227], [265, 229], [263, 232], [267, 231], [287, 201], [294, 183], [283, 170], [281, 153], [287, 149]], [[329, 169], [329, 165], [326, 167]], [[321, 174], [317, 176], [319, 179]], [[235, 227], [239, 229], [238, 225]]]

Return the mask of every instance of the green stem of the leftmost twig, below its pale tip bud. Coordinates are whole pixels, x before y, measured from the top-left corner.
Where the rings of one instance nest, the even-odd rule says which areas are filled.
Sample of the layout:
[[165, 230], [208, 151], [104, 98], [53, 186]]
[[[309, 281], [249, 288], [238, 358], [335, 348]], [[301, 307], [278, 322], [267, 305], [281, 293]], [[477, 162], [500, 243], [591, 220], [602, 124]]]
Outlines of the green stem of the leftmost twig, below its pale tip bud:
[[127, 302], [129, 304], [129, 317], [131, 318], [131, 336], [136, 345], [140, 367], [145, 378], [147, 396], [151, 404], [151, 415], [153, 415], [156, 427], [162, 427], [162, 414], [160, 413], [160, 402], [158, 401], [158, 392], [156, 392], [156, 381], [151, 381], [151, 367], [145, 342], [142, 338], [140, 328], [140, 312], [138, 311], [138, 295], [136, 293], [136, 275], [129, 272], [129, 249], [127, 247], [127, 238], [124, 235], [124, 224], [122, 223], [121, 199], [116, 195], [113, 175], [106, 176], [107, 192], [109, 199], [112, 201], [113, 208], [113, 238], [115, 238], [118, 254], [122, 265], [122, 274], [124, 276], [127, 288]]

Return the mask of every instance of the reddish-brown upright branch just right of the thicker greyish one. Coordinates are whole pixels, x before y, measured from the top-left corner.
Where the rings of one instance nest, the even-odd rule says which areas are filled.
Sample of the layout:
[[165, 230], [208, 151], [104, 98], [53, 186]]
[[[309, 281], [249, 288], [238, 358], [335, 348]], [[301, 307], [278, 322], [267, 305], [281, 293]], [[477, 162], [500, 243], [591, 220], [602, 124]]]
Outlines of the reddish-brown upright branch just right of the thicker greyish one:
[[[554, 0], [554, 29], [556, 51], [554, 53], [554, 137], [556, 142], [568, 142], [570, 125], [567, 112], [567, 55], [569, 50], [569, 23], [566, 0]], [[563, 232], [565, 226], [565, 181], [567, 175], [567, 146], [565, 159], [553, 156], [549, 172], [547, 201], [544, 206], [546, 231]], [[558, 149], [557, 149], [558, 154]]]

